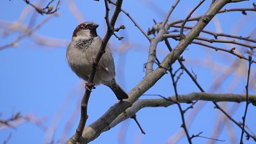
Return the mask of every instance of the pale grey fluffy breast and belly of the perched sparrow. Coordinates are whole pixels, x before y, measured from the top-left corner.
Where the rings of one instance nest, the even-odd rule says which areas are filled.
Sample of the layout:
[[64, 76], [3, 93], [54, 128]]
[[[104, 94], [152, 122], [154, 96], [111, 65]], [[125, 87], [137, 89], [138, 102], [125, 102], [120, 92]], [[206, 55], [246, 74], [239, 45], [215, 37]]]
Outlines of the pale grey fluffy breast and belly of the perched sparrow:
[[[67, 61], [68, 65], [77, 76], [88, 81], [92, 71], [92, 63], [99, 52], [101, 44], [100, 38], [92, 40], [74, 40], [68, 45]], [[115, 77], [115, 65], [110, 50], [107, 48], [99, 63], [99, 68], [95, 76], [95, 84], [108, 83]]]

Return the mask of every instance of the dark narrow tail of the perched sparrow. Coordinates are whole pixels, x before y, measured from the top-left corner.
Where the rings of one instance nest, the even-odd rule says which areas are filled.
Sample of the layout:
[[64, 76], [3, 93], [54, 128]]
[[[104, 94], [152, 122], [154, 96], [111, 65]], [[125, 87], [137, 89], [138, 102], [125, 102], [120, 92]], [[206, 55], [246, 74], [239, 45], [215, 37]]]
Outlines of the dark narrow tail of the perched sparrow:
[[118, 100], [128, 99], [127, 93], [116, 83], [115, 79], [111, 84], [106, 84], [115, 93]]

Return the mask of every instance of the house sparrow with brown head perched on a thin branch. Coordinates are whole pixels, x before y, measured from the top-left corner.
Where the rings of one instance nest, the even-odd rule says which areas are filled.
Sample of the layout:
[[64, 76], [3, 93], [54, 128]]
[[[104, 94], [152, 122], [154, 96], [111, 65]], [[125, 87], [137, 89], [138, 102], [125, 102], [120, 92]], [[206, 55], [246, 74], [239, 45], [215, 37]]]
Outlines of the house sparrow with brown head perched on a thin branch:
[[[67, 47], [66, 60], [76, 75], [88, 81], [92, 71], [92, 63], [99, 52], [102, 39], [97, 35], [94, 22], [83, 22], [77, 26], [72, 36], [72, 42]], [[109, 46], [99, 61], [94, 79], [95, 84], [104, 84], [111, 88], [118, 100], [128, 99], [127, 93], [116, 83], [115, 63]]]

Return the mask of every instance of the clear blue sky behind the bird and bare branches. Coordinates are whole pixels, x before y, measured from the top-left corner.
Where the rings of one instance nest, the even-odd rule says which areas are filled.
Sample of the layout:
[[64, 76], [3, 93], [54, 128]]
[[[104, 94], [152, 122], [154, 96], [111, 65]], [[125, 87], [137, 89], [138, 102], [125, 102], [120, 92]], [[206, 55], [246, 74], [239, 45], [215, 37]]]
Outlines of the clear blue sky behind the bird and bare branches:
[[[181, 1], [170, 17], [170, 20], [184, 19], [198, 2], [199, 1]], [[210, 1], [205, 2], [200, 9], [196, 10], [195, 15], [204, 13], [207, 8], [209, 8], [209, 2]], [[141, 28], [147, 31], [147, 29], [154, 24], [153, 19], [157, 22], [161, 22], [164, 19], [164, 15], [168, 12], [173, 3], [174, 1], [169, 0], [155, 1], [154, 4], [150, 4], [146, 0], [132, 0], [124, 1], [122, 8], [130, 13]], [[253, 1], [228, 4], [226, 8], [248, 8], [252, 7], [252, 3]], [[68, 10], [67, 4], [67, 1], [62, 1], [60, 10], [58, 11], [60, 16], [49, 20], [42, 28], [36, 31], [36, 34], [60, 38], [64, 40], [62, 45], [65, 45], [65, 42], [70, 42], [72, 32], [79, 23]], [[79, 10], [81, 10], [84, 20], [100, 24], [98, 33], [103, 37], [104, 31], [106, 30], [104, 21], [104, 1], [76, 1], [76, 4]], [[24, 3], [24, 1], [1, 1], [0, 6], [1, 22], [14, 22], [19, 19], [20, 13], [27, 7], [27, 4]], [[24, 24], [28, 24], [29, 17], [31, 17], [31, 12], [24, 21]], [[35, 24], [40, 23], [40, 21], [46, 17], [47, 15], [42, 16], [38, 14]], [[252, 12], [248, 12], [246, 16], [241, 15], [239, 12], [228, 15], [220, 14], [218, 15], [218, 20], [220, 20], [221, 28], [225, 33], [234, 33], [235, 29], [237, 30], [237, 35], [247, 36], [250, 31], [255, 29], [255, 13]], [[243, 25], [243, 21], [248, 22], [248, 24]], [[124, 87], [125, 91], [129, 92], [129, 90], [136, 86], [136, 84], [143, 79], [143, 76], [145, 76], [143, 63], [147, 61], [149, 43], [134, 24], [132, 24], [131, 20], [127, 19], [123, 13], [120, 14], [118, 18], [117, 25], [120, 24], [124, 24], [126, 29], [121, 30], [120, 33], [117, 34], [125, 38], [123, 41], [118, 42], [115, 37], [112, 37], [110, 44], [113, 45], [116, 79], [118, 83]], [[188, 22], [189, 26], [192, 26], [192, 24], [194, 23]], [[237, 27], [237, 25], [243, 26], [243, 29]], [[207, 26], [207, 29], [216, 31], [213, 22]], [[1, 33], [3, 30], [3, 28], [0, 28]], [[0, 45], [12, 42], [18, 35], [19, 33], [14, 33], [8, 37], [1, 35]], [[118, 54], [116, 46], [125, 41], [132, 42], [134, 45], [124, 54]], [[172, 41], [171, 44], [175, 45], [177, 42]], [[225, 45], [222, 46], [225, 47]], [[157, 54], [159, 59], [163, 60], [168, 50], [164, 44], [161, 43], [158, 46], [157, 52], [159, 52]], [[12, 113], [17, 111], [20, 111], [21, 115], [31, 113], [35, 118], [42, 118], [43, 124], [47, 128], [47, 131], [43, 131], [37, 125], [28, 122], [20, 124], [16, 129], [0, 129], [0, 143], [8, 137], [10, 132], [12, 132], [12, 138], [8, 143], [26, 144], [44, 143], [45, 140], [51, 140], [53, 133], [55, 133], [55, 142], [61, 140], [63, 133], [68, 134], [61, 140], [61, 142], [63, 142], [63, 140], [67, 140], [67, 138], [70, 138], [70, 136], [74, 134], [79, 121], [79, 110], [77, 110], [77, 108], [79, 109], [80, 100], [84, 92], [84, 82], [68, 67], [65, 61], [65, 53], [66, 47], [46, 47], [37, 45], [33, 42], [32, 38], [20, 40], [18, 47], [10, 47], [0, 51], [0, 118], [8, 118]], [[211, 66], [207, 67], [204, 63], [206, 61], [205, 58], [207, 59], [211, 56], [212, 61], [221, 65], [219, 69], [227, 68], [230, 66], [228, 60], [234, 61], [236, 58], [234, 56], [228, 56], [228, 60], [225, 60], [225, 58], [223, 58], [224, 54], [224, 52], [215, 52], [197, 45], [189, 45], [188, 51], [185, 51], [182, 55], [186, 58], [185, 63], [189, 70], [193, 68], [193, 71], [196, 72], [199, 83], [202, 84], [205, 90], [209, 90], [214, 79], [220, 76], [221, 70], [211, 70]], [[177, 67], [177, 65], [175, 65], [175, 67]], [[246, 73], [243, 73], [243, 75], [246, 76]], [[236, 78], [235, 75], [228, 77], [227, 81], [221, 85], [221, 88], [214, 92], [230, 93], [228, 86], [232, 84], [232, 80], [234, 79], [240, 78]], [[245, 84], [246, 81], [244, 77], [242, 77], [235, 90], [231, 92], [243, 93]], [[182, 76], [178, 86], [178, 92], [180, 94], [199, 92], [195, 84], [191, 82], [186, 74]], [[166, 97], [173, 95], [170, 76], [168, 74], [163, 76], [163, 79], [159, 80], [156, 85], [146, 93], [161, 94]], [[255, 91], [252, 91], [252, 94], [255, 94]], [[141, 99], [144, 98], [147, 98], [147, 96], [141, 97]], [[91, 124], [97, 120], [97, 118], [115, 102], [117, 102], [117, 99], [109, 88], [102, 85], [97, 86], [90, 97], [87, 124]], [[236, 118], [237, 121], [241, 121], [244, 104], [228, 103], [226, 105], [228, 108], [232, 106], [239, 107], [234, 114], [234, 118]], [[183, 108], [185, 109], [189, 105], [184, 104], [182, 106], [184, 106]], [[189, 134], [204, 132], [202, 134], [203, 136], [212, 136], [214, 125], [219, 122], [216, 116], [223, 116], [220, 114], [220, 111], [213, 107], [211, 102], [205, 104], [204, 108], [196, 115], [193, 124], [189, 128]], [[194, 111], [194, 109], [191, 111]], [[255, 107], [250, 105], [246, 122], [248, 122], [250, 128], [255, 132], [255, 121], [253, 122], [253, 120], [255, 120], [256, 117], [253, 111], [255, 111]], [[188, 114], [186, 117], [189, 121]], [[180, 130], [180, 125], [182, 124], [177, 106], [171, 106], [169, 108], [145, 108], [137, 113], [137, 118], [146, 132], [146, 135], [141, 134], [135, 122], [129, 119], [110, 131], [100, 134], [99, 138], [91, 143], [166, 143], [176, 131]], [[72, 124], [67, 125], [69, 120]], [[231, 122], [229, 122], [228, 125], [234, 127], [237, 137], [236, 141], [239, 141], [241, 131]], [[226, 129], [227, 126], [223, 128], [225, 128], [225, 130], [221, 132], [218, 139], [226, 141], [216, 141], [216, 143], [230, 143]], [[125, 134], [124, 139], [120, 139], [121, 133]], [[205, 141], [207, 140], [204, 138], [193, 139], [194, 143], [205, 143]], [[187, 143], [186, 138], [180, 140], [179, 143]], [[244, 143], [253, 143], [253, 141], [244, 140]]]

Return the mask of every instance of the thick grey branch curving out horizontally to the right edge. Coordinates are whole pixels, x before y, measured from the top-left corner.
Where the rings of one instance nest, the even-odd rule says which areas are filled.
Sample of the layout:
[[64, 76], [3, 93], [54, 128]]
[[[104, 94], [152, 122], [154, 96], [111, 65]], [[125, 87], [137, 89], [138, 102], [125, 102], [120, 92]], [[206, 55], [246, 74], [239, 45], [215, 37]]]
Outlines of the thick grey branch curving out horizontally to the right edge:
[[[256, 104], [256, 95], [249, 95], [249, 102]], [[115, 125], [119, 124], [120, 122], [130, 118], [132, 115], [136, 114], [140, 109], [143, 108], [154, 108], [154, 107], [168, 107], [175, 104], [172, 101], [176, 100], [175, 95], [172, 97], [168, 97], [165, 99], [143, 99], [137, 100], [132, 104], [131, 108], [125, 110], [125, 113], [120, 114], [111, 124], [104, 129], [104, 131], [108, 131]], [[233, 94], [233, 93], [188, 93], [186, 95], [179, 95], [179, 102], [180, 103], [190, 103], [195, 100], [204, 100], [204, 101], [212, 101], [212, 102], [246, 102], [246, 95], [241, 94]]]

